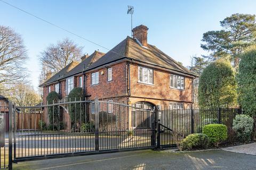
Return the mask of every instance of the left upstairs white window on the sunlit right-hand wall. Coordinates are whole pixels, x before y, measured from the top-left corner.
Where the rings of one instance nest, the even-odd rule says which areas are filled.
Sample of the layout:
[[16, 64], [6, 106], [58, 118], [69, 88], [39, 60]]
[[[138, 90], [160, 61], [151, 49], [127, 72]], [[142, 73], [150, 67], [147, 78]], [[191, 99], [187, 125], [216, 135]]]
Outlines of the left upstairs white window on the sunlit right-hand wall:
[[153, 84], [153, 69], [138, 67], [138, 81], [145, 84]]

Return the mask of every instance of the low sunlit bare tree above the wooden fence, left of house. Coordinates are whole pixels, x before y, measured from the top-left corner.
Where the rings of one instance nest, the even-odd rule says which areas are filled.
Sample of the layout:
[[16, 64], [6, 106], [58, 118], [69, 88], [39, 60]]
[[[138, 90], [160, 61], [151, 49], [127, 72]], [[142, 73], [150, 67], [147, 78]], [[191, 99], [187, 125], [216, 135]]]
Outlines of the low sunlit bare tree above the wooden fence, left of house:
[[32, 86], [17, 83], [7, 93], [7, 97], [18, 106], [34, 106], [41, 101], [40, 95]]

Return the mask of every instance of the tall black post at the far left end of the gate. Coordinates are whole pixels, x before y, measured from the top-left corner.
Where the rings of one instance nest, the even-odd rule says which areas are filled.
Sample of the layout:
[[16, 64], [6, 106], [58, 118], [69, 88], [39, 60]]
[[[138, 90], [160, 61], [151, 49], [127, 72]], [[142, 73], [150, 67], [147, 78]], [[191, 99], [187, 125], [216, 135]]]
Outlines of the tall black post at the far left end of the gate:
[[12, 101], [9, 101], [9, 165], [8, 168], [12, 170], [12, 115], [13, 105]]

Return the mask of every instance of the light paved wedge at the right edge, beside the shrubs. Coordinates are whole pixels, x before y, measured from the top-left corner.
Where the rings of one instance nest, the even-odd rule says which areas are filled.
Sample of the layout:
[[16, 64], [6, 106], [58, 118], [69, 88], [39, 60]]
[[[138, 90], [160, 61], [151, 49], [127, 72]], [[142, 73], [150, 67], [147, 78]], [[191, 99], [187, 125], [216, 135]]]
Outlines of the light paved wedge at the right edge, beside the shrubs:
[[241, 154], [256, 155], [256, 142], [250, 143], [247, 145], [242, 145], [242, 146], [224, 148], [223, 150], [241, 153]]

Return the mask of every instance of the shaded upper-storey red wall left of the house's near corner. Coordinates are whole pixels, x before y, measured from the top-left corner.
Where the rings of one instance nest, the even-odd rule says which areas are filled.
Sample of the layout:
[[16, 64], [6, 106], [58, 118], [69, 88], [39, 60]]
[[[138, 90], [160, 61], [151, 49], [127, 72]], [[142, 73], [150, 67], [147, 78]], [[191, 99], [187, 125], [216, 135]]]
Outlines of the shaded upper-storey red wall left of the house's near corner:
[[[107, 81], [107, 68], [99, 69], [99, 84], [91, 85], [91, 73], [86, 73], [86, 95], [89, 100], [94, 100], [95, 97], [110, 98], [127, 95], [127, 67], [126, 62], [112, 65], [112, 81]], [[103, 75], [101, 75], [103, 71]]]

